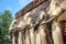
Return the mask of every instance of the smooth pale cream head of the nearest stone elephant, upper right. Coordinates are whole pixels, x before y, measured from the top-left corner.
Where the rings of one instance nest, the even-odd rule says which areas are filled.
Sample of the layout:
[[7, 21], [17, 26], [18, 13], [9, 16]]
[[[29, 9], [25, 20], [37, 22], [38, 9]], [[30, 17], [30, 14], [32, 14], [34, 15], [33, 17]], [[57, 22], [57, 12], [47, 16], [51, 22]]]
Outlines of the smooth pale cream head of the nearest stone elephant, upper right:
[[62, 9], [59, 8], [59, 3], [57, 3], [59, 1], [57, 0], [52, 0], [51, 1], [51, 4], [50, 4], [50, 11], [48, 11], [48, 14], [52, 16], [52, 15], [58, 15], [61, 12], [62, 12]]

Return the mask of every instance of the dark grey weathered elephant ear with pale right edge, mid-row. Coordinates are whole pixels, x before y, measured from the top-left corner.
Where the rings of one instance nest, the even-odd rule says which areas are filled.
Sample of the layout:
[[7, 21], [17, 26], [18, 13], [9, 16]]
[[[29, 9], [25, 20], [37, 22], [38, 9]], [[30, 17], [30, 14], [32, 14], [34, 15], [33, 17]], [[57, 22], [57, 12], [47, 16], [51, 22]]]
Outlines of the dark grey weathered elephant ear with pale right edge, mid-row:
[[40, 22], [43, 19], [43, 14], [44, 14], [43, 12], [36, 12], [29, 15], [30, 18], [32, 18], [31, 23], [34, 25], [37, 22]]

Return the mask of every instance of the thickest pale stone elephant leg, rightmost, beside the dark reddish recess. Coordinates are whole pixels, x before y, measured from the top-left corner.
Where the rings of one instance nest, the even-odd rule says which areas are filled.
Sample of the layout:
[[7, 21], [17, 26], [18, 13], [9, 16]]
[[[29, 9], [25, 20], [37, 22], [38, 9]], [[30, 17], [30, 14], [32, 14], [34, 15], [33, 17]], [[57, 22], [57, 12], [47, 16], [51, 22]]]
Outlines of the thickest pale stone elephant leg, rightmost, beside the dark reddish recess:
[[64, 44], [62, 31], [61, 31], [57, 22], [55, 22], [52, 26], [53, 26], [52, 35], [53, 35], [54, 44]]

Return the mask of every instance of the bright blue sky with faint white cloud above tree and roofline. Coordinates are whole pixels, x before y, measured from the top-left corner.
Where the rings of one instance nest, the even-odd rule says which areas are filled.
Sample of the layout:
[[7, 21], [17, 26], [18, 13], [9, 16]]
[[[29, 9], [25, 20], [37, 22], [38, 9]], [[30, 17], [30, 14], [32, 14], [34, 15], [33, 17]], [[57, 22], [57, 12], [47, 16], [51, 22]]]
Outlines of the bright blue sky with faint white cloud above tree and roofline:
[[0, 0], [0, 12], [3, 12], [4, 10], [10, 10], [12, 13], [12, 16], [24, 8], [28, 3], [30, 3], [32, 0]]

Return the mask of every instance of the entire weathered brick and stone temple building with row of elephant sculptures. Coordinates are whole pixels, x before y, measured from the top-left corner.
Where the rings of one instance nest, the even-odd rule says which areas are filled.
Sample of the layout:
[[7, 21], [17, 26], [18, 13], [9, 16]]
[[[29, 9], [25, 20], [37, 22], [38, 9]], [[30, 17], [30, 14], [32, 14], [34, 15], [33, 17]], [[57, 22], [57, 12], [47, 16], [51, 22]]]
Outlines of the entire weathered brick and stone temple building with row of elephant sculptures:
[[66, 0], [33, 0], [15, 13], [12, 44], [66, 44]]

